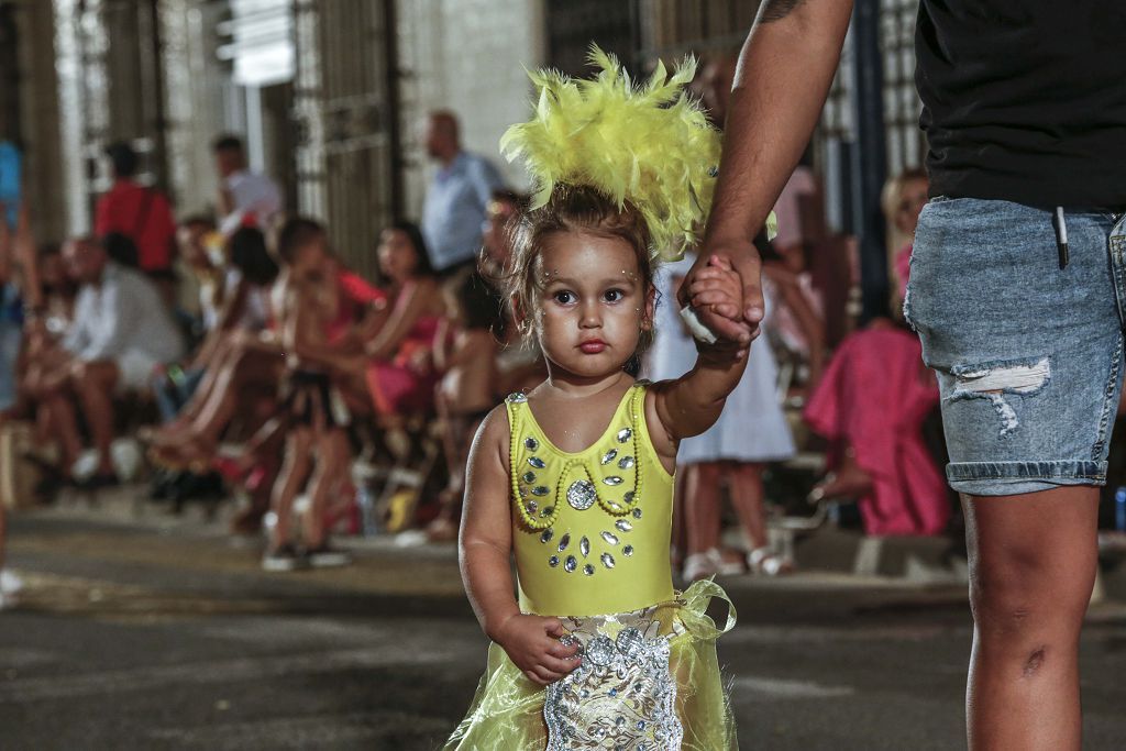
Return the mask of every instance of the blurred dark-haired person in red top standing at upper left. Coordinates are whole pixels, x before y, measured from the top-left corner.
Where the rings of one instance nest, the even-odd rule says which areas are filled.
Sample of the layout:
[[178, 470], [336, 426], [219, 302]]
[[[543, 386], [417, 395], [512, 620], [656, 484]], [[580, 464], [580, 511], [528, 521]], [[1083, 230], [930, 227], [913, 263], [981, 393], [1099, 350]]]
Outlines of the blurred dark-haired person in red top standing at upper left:
[[113, 166], [114, 187], [98, 199], [95, 234], [129, 238], [137, 247], [137, 265], [146, 274], [171, 268], [176, 221], [168, 198], [133, 179], [137, 154], [127, 143], [110, 144], [106, 155]]

